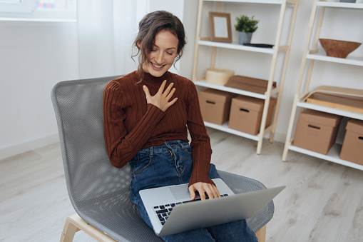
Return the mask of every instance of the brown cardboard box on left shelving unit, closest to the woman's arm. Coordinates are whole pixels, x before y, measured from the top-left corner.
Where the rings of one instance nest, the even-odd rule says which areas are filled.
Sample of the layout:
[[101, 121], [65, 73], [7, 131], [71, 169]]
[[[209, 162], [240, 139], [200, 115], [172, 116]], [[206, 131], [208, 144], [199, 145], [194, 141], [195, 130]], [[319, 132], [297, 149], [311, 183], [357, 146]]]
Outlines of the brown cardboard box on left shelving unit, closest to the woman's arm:
[[200, 111], [203, 120], [210, 123], [223, 124], [230, 115], [230, 101], [235, 94], [215, 89], [199, 92]]

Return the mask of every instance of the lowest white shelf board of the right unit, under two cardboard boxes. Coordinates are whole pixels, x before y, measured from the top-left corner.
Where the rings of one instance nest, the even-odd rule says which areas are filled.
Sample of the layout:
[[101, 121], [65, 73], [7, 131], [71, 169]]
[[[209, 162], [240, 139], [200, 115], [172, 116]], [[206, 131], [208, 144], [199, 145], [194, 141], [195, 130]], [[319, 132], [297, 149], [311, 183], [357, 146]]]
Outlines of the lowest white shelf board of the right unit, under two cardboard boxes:
[[300, 147], [293, 146], [293, 145], [289, 146], [289, 150], [290, 151], [296, 151], [296, 152], [299, 152], [299, 153], [305, 153], [305, 154], [307, 154], [309, 156], [322, 158], [323, 160], [326, 160], [326, 161], [332, 161], [334, 163], [338, 163], [338, 164], [341, 164], [343, 166], [349, 166], [349, 167], [356, 168], [358, 170], [363, 171], [363, 166], [362, 165], [359, 165], [357, 163], [350, 162], [350, 161], [345, 161], [345, 160], [342, 160], [341, 158], [339, 158], [339, 153], [342, 150], [342, 145], [340, 145], [338, 143], [334, 143], [334, 145], [332, 146], [332, 148], [330, 148], [327, 155], [324, 155], [322, 153], [317, 153], [317, 152], [314, 152], [314, 151], [309, 151], [309, 150], [307, 150], [305, 148], [300, 148]]

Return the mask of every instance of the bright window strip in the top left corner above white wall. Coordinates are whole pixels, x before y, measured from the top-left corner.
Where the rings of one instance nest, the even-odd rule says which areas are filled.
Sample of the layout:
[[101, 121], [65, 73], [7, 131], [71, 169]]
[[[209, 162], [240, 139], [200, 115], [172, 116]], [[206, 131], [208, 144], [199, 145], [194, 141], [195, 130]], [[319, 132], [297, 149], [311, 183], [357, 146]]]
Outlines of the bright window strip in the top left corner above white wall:
[[5, 20], [76, 21], [76, 0], [0, 0]]

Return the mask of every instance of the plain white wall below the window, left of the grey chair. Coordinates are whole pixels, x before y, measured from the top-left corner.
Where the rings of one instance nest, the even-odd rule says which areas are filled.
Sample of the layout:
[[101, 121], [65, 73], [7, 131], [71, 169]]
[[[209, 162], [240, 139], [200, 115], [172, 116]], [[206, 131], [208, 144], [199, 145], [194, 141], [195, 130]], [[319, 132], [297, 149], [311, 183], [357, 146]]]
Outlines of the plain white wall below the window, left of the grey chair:
[[78, 78], [75, 23], [0, 21], [0, 158], [58, 141], [57, 81]]

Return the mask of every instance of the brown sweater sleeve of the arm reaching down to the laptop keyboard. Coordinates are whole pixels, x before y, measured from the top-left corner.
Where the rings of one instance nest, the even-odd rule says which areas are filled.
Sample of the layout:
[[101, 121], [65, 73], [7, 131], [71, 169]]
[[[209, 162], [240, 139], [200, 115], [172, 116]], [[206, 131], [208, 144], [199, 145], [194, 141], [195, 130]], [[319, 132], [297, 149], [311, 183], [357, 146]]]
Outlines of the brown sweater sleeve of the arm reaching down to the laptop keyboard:
[[189, 81], [189, 85], [187, 124], [192, 138], [190, 146], [193, 147], [193, 171], [189, 181], [189, 186], [196, 182], [214, 184], [212, 179], [208, 177], [210, 158], [212, 156], [210, 138], [200, 112], [197, 89], [192, 81]]

